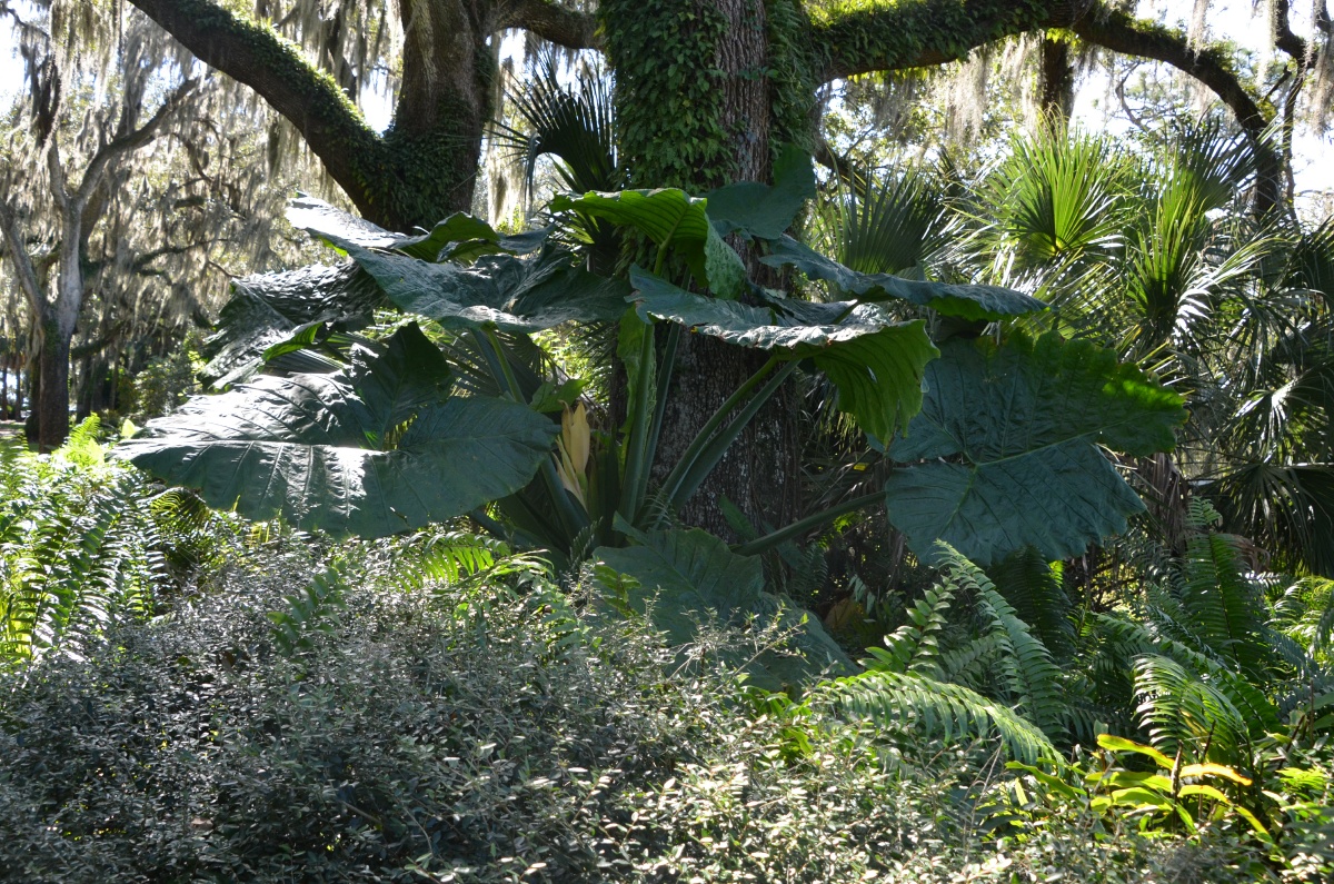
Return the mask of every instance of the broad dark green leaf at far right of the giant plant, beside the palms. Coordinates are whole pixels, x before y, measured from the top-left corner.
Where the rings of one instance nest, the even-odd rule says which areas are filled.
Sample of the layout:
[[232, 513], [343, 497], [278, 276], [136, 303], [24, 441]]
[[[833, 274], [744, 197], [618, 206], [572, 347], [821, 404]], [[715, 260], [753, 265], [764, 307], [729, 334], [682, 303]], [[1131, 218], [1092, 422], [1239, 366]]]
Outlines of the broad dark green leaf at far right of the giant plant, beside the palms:
[[1054, 561], [1126, 530], [1143, 503], [1099, 446], [1170, 450], [1186, 417], [1179, 395], [1055, 333], [940, 350], [920, 414], [890, 449], [926, 462], [886, 483], [890, 521], [918, 556], [932, 558], [940, 539], [980, 565], [1025, 546]]

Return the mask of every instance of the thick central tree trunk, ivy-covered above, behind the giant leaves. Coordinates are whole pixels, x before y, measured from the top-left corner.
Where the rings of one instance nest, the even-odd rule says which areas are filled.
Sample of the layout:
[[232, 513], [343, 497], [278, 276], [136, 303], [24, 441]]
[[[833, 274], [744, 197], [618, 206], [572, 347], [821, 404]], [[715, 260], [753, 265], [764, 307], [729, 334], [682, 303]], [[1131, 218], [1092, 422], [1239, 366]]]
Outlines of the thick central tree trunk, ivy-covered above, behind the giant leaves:
[[[692, 194], [735, 180], [767, 182], [783, 142], [810, 144], [812, 84], [798, 56], [774, 52], [792, 32], [795, 4], [763, 0], [611, 0], [600, 15], [616, 69], [622, 156], [635, 187]], [[787, 29], [786, 32], [783, 29]], [[784, 88], [786, 87], [786, 88]], [[794, 100], [794, 88], [798, 97]], [[799, 114], [792, 112], [803, 105]], [[748, 243], [735, 240], [752, 276], [764, 278]], [[711, 338], [687, 335], [659, 442], [656, 475], [671, 469], [718, 406], [764, 358]], [[791, 385], [732, 445], [684, 507], [682, 518], [731, 535], [726, 497], [752, 522], [784, 525], [800, 510], [800, 451]]]

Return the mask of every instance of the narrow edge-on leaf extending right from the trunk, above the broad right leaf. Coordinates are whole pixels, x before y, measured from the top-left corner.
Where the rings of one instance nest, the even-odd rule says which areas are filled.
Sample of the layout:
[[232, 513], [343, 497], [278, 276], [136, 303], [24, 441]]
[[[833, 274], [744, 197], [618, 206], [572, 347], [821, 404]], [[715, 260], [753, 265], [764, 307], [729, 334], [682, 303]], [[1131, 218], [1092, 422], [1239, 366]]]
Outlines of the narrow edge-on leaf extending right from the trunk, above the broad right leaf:
[[994, 322], [1047, 308], [1037, 298], [999, 286], [964, 286], [902, 279], [888, 274], [859, 274], [791, 236], [775, 240], [771, 254], [760, 258], [760, 263], [795, 267], [811, 279], [832, 283], [859, 302], [907, 300], [947, 316], [970, 320]]

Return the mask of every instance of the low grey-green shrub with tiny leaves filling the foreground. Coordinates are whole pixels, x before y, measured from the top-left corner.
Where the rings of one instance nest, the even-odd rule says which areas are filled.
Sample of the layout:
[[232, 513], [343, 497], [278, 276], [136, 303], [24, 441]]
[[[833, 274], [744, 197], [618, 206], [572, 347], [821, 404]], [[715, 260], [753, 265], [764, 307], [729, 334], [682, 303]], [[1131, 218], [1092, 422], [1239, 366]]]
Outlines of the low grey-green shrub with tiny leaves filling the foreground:
[[1229, 880], [1078, 821], [995, 853], [975, 753], [923, 768], [531, 569], [404, 593], [317, 568], [232, 566], [0, 682], [0, 879]]

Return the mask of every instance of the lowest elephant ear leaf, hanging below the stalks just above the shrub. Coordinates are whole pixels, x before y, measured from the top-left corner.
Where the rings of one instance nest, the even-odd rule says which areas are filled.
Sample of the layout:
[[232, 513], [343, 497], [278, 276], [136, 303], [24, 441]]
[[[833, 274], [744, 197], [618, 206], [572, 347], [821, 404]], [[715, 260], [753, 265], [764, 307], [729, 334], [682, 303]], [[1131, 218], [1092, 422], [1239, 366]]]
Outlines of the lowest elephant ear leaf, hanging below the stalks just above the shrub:
[[776, 621], [790, 633], [788, 653], [762, 653], [746, 666], [752, 682], [778, 690], [831, 666], [852, 670], [851, 661], [814, 616], [803, 616], [764, 592], [759, 558], [738, 556], [700, 529], [651, 531], [636, 539], [639, 546], [599, 547], [594, 558], [634, 578], [620, 602], [648, 614], [670, 644], [694, 641], [700, 622], [747, 628], [751, 618]]

